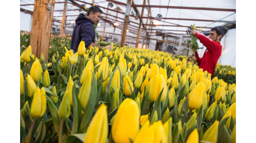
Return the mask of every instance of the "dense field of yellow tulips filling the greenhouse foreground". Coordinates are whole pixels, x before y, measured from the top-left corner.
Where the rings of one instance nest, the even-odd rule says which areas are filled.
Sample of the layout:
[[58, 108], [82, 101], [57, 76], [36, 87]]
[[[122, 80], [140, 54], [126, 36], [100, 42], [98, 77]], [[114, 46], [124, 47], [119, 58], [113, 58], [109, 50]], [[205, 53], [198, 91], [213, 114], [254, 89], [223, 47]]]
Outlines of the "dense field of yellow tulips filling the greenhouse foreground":
[[187, 57], [62, 50], [20, 51], [20, 142], [236, 142], [236, 85]]

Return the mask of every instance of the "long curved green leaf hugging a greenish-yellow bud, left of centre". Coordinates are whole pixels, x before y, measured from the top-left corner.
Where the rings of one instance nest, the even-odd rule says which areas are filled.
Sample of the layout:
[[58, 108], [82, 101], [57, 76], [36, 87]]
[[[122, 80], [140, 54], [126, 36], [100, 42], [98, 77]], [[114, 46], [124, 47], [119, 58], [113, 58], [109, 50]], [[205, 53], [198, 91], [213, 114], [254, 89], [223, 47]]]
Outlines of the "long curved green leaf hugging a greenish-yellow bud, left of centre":
[[[93, 74], [92, 70], [91, 70], [91, 72]], [[92, 86], [91, 86], [91, 91], [90, 91], [90, 97], [89, 97], [88, 103], [86, 105], [86, 108], [84, 110], [84, 114], [82, 115], [83, 117], [80, 122], [78, 133], [85, 132], [89, 120], [92, 119], [93, 110], [96, 105], [96, 101], [97, 101], [97, 84], [96, 84], [95, 75], [93, 74], [93, 81], [92, 81]]]

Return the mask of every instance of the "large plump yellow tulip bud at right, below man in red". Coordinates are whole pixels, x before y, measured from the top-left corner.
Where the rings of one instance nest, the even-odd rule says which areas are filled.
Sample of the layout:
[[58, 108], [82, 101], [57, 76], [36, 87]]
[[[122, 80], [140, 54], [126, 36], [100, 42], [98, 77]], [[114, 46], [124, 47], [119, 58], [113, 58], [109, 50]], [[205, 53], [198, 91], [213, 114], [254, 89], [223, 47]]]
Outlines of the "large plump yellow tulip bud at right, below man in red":
[[189, 109], [198, 109], [202, 105], [205, 86], [203, 82], [199, 82], [195, 88], [189, 93]]

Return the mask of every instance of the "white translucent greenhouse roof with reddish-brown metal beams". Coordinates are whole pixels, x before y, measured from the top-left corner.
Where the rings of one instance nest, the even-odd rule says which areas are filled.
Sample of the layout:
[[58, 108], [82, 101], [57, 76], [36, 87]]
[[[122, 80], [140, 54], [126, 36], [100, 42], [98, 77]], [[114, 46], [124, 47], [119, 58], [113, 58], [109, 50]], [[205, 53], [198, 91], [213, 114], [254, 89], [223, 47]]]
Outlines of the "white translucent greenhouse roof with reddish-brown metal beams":
[[[39, 0], [20, 0], [20, 11], [33, 14], [34, 2]], [[55, 0], [53, 25], [61, 27], [65, 0]], [[113, 23], [116, 26], [115, 34], [121, 34], [126, 12], [126, 0], [68, 0], [66, 11], [66, 31], [71, 31], [75, 25], [75, 19], [79, 13], [86, 13], [86, 8], [93, 4], [102, 9], [101, 25], [97, 26], [97, 31], [114, 33]], [[141, 15], [142, 9], [144, 13]], [[149, 18], [149, 19], [148, 19]], [[190, 1], [190, 0], [134, 0], [131, 5], [130, 18], [127, 36], [136, 37], [138, 34], [140, 19], [142, 20], [140, 38], [146, 31], [150, 38], [161, 38], [164, 34], [189, 36], [188, 31], [191, 24], [195, 24], [197, 29], [202, 27], [202, 31], [209, 31], [219, 25], [234, 27], [236, 23], [236, 1], [216, 0], [216, 1]], [[158, 25], [154, 25], [157, 22]], [[152, 30], [151, 30], [152, 29]], [[158, 33], [157, 33], [158, 32]], [[156, 35], [157, 34], [157, 35]]]

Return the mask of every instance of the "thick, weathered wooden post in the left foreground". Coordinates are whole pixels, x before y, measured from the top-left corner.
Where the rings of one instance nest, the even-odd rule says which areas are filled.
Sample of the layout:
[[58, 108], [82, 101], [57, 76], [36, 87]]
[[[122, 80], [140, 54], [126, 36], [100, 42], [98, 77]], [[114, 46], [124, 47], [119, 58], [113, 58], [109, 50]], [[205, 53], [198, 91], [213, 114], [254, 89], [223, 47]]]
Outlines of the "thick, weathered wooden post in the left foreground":
[[31, 27], [30, 45], [32, 53], [40, 58], [44, 54], [45, 63], [48, 61], [49, 44], [52, 30], [52, 19], [55, 0], [50, 1], [51, 9], [47, 9], [48, 0], [34, 2], [33, 19]]

